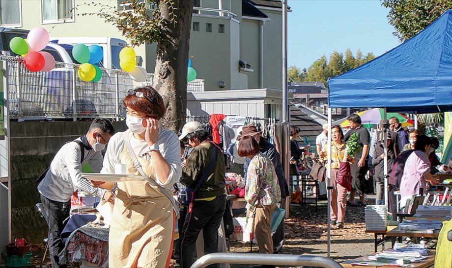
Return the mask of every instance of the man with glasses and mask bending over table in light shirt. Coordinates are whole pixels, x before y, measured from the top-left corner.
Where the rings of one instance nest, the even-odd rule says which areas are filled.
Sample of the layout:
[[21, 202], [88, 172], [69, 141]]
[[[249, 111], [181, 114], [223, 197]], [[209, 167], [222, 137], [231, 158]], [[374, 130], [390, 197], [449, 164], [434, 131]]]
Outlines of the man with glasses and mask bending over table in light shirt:
[[81, 175], [85, 163], [89, 163], [94, 172], [100, 172], [103, 162], [102, 150], [113, 134], [114, 128], [109, 121], [95, 119], [85, 136], [66, 143], [58, 150], [49, 169], [41, 176], [42, 180], [39, 182], [38, 179], [38, 192], [49, 227], [49, 252], [54, 268], [63, 267], [59, 265], [59, 254], [64, 247], [61, 232], [64, 220], [69, 217], [72, 194], [80, 189], [111, 203], [114, 202], [114, 195], [111, 192], [94, 188]]

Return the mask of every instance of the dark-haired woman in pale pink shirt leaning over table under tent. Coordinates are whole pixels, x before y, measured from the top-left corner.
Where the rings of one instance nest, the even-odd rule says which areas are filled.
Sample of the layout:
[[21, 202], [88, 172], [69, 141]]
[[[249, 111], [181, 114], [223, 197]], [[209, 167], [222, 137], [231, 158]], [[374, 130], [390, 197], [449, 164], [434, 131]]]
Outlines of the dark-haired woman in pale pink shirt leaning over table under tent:
[[[410, 133], [411, 134], [411, 133]], [[413, 195], [424, 194], [426, 183], [438, 184], [438, 179], [430, 174], [430, 161], [426, 152], [430, 150], [431, 139], [425, 135], [417, 136], [414, 151], [408, 156], [400, 180], [400, 207]], [[423, 189], [422, 193], [420, 189]]]

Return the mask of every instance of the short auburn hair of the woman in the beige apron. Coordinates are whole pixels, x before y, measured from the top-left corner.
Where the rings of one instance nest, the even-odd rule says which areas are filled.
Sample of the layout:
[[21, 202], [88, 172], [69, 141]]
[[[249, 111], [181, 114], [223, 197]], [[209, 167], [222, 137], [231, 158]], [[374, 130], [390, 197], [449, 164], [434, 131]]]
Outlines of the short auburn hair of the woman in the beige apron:
[[135, 92], [141, 92], [143, 97], [127, 95], [124, 100], [124, 106], [130, 107], [137, 112], [146, 114], [146, 117], [160, 120], [165, 116], [167, 108], [163, 102], [162, 96], [152, 87], [146, 86], [134, 89]]

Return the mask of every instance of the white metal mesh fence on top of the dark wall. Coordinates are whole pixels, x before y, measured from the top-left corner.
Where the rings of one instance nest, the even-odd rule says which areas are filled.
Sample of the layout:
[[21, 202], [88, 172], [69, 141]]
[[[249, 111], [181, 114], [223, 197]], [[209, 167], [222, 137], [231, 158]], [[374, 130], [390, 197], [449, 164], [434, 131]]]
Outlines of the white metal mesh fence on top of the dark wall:
[[[129, 89], [152, 85], [154, 75], [135, 82], [121, 70], [100, 68], [102, 78], [85, 82], [77, 74], [78, 64], [57, 62], [50, 72], [30, 72], [21, 58], [0, 55], [5, 92], [8, 92], [12, 119], [86, 119], [125, 116], [122, 99]], [[188, 91], [204, 91], [204, 80], [195, 79]]]

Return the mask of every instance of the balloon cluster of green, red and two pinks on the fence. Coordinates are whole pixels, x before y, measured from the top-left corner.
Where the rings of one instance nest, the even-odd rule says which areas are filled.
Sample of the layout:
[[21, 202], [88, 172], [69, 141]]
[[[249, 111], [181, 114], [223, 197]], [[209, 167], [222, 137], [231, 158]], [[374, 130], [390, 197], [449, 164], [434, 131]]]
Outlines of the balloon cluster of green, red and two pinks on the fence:
[[49, 44], [49, 33], [42, 27], [28, 32], [27, 39], [16, 36], [9, 42], [14, 53], [25, 57], [25, 67], [31, 72], [49, 72], [55, 68], [55, 58], [45, 49]]

